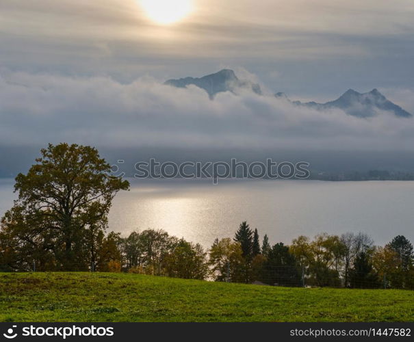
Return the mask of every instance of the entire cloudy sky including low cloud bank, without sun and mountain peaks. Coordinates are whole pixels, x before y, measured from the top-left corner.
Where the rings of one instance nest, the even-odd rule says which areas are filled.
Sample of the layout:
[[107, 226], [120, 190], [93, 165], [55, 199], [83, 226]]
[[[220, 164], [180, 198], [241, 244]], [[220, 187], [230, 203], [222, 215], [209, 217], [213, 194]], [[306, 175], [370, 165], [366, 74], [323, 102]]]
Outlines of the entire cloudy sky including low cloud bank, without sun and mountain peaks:
[[[182, 21], [158, 25], [135, 0], [1, 0], [0, 148], [413, 153], [412, 118], [361, 119], [272, 96], [327, 101], [378, 88], [414, 113], [413, 18], [412, 0], [194, 0]], [[224, 67], [267, 95], [211, 101], [162, 84]]]

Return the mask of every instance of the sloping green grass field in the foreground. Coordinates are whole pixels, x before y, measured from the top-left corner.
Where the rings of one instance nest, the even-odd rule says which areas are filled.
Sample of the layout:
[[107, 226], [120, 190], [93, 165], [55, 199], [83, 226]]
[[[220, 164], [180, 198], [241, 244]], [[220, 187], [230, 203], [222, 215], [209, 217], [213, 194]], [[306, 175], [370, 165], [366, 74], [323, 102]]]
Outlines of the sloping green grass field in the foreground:
[[414, 321], [414, 291], [3, 273], [0, 321]]

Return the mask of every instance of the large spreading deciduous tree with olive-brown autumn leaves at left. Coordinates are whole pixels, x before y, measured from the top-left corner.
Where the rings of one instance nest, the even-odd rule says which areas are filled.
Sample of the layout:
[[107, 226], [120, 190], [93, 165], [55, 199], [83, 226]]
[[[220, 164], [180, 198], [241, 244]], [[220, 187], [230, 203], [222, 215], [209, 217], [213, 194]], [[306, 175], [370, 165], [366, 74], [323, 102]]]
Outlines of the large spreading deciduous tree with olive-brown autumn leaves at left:
[[98, 150], [49, 144], [27, 174], [18, 174], [14, 207], [1, 220], [0, 251], [10, 269], [88, 269], [117, 192], [128, 181], [108, 176]]

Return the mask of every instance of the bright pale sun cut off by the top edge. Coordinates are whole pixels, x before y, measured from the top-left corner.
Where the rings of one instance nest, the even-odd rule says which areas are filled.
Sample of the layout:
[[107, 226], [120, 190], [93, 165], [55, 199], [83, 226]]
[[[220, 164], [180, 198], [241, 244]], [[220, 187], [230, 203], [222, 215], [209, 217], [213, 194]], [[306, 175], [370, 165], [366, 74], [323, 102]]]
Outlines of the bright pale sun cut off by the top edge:
[[192, 0], [139, 0], [146, 16], [157, 24], [181, 21], [193, 10]]

